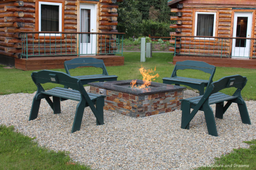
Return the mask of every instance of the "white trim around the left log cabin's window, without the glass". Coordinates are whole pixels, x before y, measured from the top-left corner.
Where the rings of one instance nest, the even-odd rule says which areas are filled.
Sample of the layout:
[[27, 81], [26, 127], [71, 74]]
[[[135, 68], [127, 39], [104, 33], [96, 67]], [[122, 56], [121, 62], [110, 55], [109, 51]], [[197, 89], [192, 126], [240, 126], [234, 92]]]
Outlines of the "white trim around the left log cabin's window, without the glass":
[[[62, 30], [62, 3], [55, 3], [55, 2], [38, 2], [38, 31], [41, 31], [41, 5], [57, 5], [59, 6], [59, 32]], [[39, 36], [61, 36], [61, 34], [55, 33], [39, 33]]]

